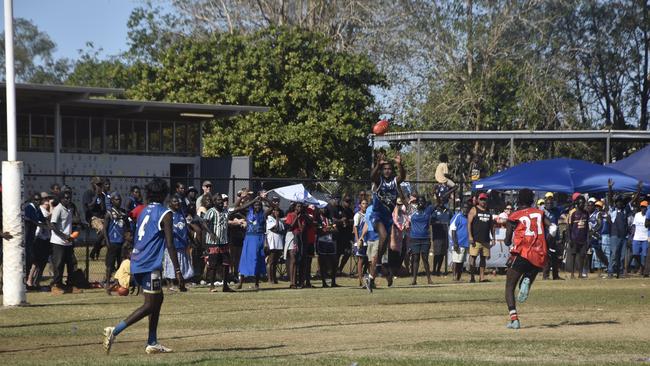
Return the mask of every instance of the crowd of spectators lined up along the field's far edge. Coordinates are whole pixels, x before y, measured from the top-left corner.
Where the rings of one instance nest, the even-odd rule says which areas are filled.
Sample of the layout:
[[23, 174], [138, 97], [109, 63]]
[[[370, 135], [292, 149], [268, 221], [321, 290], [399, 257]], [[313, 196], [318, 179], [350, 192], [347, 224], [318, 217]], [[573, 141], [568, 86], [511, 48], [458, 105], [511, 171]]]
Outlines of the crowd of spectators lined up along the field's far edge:
[[[417, 285], [420, 268], [431, 284], [432, 276], [446, 275], [446, 264], [451, 263], [454, 280], [460, 281], [468, 269], [470, 282], [476, 282], [476, 277], [489, 282], [486, 266], [495, 245], [495, 229], [505, 225], [516, 207], [505, 200], [491, 200], [493, 192], [461, 200], [448, 174], [446, 157], [441, 161], [436, 171], [439, 183], [428, 195], [411, 191], [398, 199], [388, 248], [374, 266], [369, 258], [376, 255], [378, 235], [365, 217], [372, 210], [370, 190], [354, 198], [332, 196], [325, 207], [291, 202], [284, 212], [280, 197], [264, 191], [243, 189], [229, 206], [229, 197], [213, 192], [210, 181], [204, 181], [200, 191], [177, 183], [166, 204], [173, 212], [174, 245], [183, 277], [187, 283], [224, 292], [243, 288], [247, 280], [255, 289], [264, 280], [311, 288], [315, 278], [321, 287], [338, 287], [337, 278], [343, 275], [354, 275], [359, 286], [364, 286], [364, 274], [383, 276], [388, 285], [398, 276], [408, 276], [410, 284]], [[122, 199], [120, 193], [111, 191], [108, 178], [93, 177], [90, 183], [82, 196], [83, 219], [67, 186], [54, 184], [50, 192], [34, 194], [25, 204], [28, 290], [79, 291], [84, 275], [77, 268], [73, 227], [84, 226], [96, 238], [91, 259], [104, 259], [107, 293], [128, 287], [124, 273], [128, 273], [130, 248], [138, 235], [137, 218], [146, 205], [141, 188], [131, 187]], [[560, 201], [551, 192], [539, 199], [538, 208], [559, 227], [553, 235], [544, 234], [549, 246], [544, 279], [562, 280], [563, 269], [571, 278], [597, 271], [605, 278], [632, 273], [648, 276], [648, 199], [639, 192], [626, 199], [615, 195], [613, 187], [611, 182], [602, 199], [576, 193]], [[41, 286], [48, 263], [51, 281]], [[169, 267], [168, 255], [165, 263]], [[169, 290], [178, 290], [172, 270], [163, 277]]]

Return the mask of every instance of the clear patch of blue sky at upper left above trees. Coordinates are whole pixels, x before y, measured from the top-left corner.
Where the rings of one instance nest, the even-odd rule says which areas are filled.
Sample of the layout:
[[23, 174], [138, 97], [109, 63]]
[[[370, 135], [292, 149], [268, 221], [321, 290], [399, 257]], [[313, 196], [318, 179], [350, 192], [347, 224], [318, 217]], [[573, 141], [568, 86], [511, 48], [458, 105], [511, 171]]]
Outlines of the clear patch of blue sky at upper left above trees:
[[[104, 55], [126, 50], [126, 22], [142, 4], [141, 0], [14, 0], [14, 17], [30, 19], [47, 33], [57, 45], [55, 58], [75, 59], [77, 50], [89, 41], [103, 48]], [[0, 23], [4, 27], [4, 19]]]

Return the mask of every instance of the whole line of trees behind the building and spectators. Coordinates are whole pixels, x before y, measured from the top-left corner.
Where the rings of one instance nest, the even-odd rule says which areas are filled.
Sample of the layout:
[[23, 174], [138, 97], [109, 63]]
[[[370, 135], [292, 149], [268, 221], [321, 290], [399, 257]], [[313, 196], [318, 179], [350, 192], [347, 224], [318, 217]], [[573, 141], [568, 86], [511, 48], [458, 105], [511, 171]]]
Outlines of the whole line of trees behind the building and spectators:
[[[128, 22], [127, 51], [105, 56], [89, 45], [76, 60], [54, 60], [46, 34], [15, 24], [23, 81], [272, 107], [204, 131], [204, 155], [251, 155], [259, 176], [365, 178], [367, 134], [380, 116], [393, 131], [648, 129], [643, 0], [143, 2]], [[629, 149], [615, 144], [612, 153]], [[476, 157], [493, 172], [509, 154], [498, 142], [424, 151], [425, 179], [442, 151], [459, 175]], [[516, 151], [517, 161], [603, 155], [582, 142]], [[412, 150], [404, 155], [412, 167]]]

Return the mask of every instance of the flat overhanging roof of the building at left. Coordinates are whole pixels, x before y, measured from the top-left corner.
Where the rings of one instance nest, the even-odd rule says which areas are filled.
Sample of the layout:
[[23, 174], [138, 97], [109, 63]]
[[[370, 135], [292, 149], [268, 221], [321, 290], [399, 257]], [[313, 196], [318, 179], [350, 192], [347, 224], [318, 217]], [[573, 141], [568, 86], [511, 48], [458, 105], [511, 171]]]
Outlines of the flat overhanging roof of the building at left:
[[[0, 83], [0, 95], [6, 99], [5, 83]], [[227, 118], [251, 112], [267, 112], [268, 107], [169, 103], [115, 99], [124, 96], [124, 89], [93, 88], [67, 85], [16, 84], [18, 113], [53, 114], [58, 103], [61, 114], [92, 115], [115, 118], [157, 120], [206, 120]]]

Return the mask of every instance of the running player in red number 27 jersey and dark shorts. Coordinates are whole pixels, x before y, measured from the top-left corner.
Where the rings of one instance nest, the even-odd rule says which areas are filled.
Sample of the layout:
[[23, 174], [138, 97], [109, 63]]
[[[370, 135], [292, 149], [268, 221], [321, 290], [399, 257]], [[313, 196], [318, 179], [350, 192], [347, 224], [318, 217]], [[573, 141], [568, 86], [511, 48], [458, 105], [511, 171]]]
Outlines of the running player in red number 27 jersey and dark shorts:
[[526, 301], [530, 286], [548, 260], [544, 228], [549, 228], [550, 235], [555, 235], [557, 230], [557, 226], [544, 216], [544, 211], [532, 207], [534, 200], [533, 191], [522, 189], [518, 197], [519, 209], [508, 216], [505, 243], [510, 247], [510, 258], [506, 272], [506, 303], [510, 312], [507, 327], [510, 329], [521, 327], [515, 287], [519, 283], [517, 300]]

